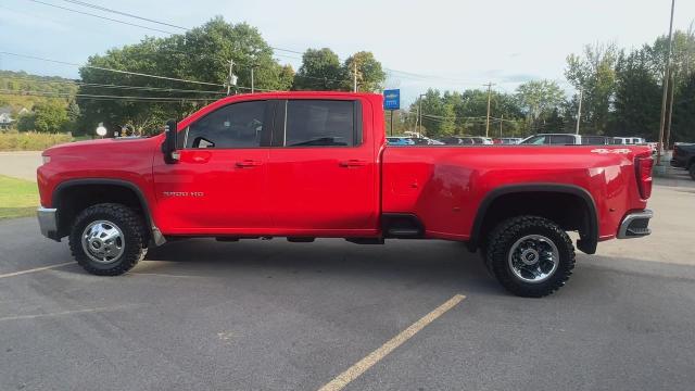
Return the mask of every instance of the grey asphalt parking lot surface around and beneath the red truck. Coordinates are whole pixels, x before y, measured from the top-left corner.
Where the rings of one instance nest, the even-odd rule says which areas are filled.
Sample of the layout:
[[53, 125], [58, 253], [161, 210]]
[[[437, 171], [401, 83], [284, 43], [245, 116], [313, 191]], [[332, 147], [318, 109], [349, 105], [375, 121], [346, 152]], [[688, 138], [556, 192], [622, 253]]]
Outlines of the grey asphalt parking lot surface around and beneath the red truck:
[[659, 181], [652, 237], [538, 300], [454, 242], [195, 239], [96, 277], [3, 220], [0, 389], [692, 390], [694, 200]]

